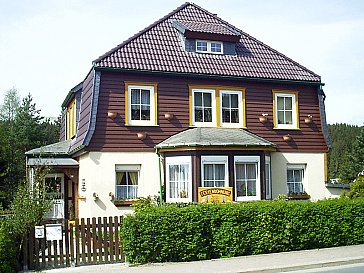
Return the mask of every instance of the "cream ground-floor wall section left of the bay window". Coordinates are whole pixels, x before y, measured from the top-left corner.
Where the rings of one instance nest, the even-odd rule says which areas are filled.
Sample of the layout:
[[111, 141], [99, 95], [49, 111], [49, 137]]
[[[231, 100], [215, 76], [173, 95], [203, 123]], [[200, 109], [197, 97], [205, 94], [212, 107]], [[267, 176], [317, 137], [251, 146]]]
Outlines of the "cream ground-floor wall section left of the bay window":
[[[156, 153], [89, 152], [79, 158], [79, 217], [118, 216], [132, 212], [131, 207], [116, 207], [109, 197], [110, 192], [115, 194], [117, 164], [140, 165], [138, 195], [158, 195], [160, 184]], [[96, 201], [94, 193], [99, 197]]]

